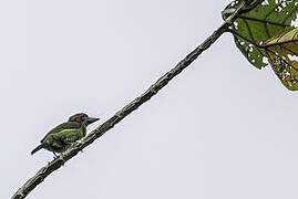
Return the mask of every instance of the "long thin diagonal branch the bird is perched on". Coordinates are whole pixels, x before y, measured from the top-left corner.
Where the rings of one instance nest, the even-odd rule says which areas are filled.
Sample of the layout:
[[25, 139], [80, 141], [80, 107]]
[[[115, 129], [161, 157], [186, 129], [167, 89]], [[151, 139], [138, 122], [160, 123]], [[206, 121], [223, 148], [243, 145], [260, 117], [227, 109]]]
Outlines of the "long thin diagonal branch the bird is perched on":
[[[244, 3], [240, 6], [244, 7]], [[228, 20], [222, 24], [214, 33], [207, 38], [201, 45], [198, 45], [193, 52], [191, 52], [184, 60], [182, 60], [174, 69], [163, 75], [156, 83], [150, 86], [141, 96], [136, 97], [129, 105], [124, 106], [114, 116], [92, 130], [86, 137], [80, 142], [73, 144], [65, 153], [62, 153], [58, 158], [50, 161], [47, 166], [42, 167], [32, 178], [30, 178], [13, 196], [12, 199], [23, 199], [28, 193], [33, 190], [39, 184], [41, 184], [50, 174], [59, 169], [69, 159], [74, 157], [83, 148], [92, 144], [95, 139], [101, 137], [109, 129], [113, 128], [125, 116], [135, 111], [138, 106], [147, 102], [152, 96], [156, 95], [174, 76], [178, 75], [184, 69], [186, 69], [197, 56], [207, 50], [224, 32], [228, 30], [228, 27], [235, 21], [240, 13], [240, 9], [236, 10]]]

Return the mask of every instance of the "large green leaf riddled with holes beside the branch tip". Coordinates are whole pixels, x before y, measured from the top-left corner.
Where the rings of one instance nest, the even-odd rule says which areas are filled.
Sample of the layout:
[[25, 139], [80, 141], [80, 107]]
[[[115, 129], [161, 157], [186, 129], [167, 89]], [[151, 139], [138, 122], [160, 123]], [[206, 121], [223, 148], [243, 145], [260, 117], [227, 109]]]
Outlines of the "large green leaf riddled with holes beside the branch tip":
[[[237, 9], [240, 0], [232, 2], [223, 11], [223, 19], [227, 19], [230, 11]], [[297, 19], [297, 0], [250, 0], [243, 9], [240, 15], [234, 22], [230, 31], [237, 48], [246, 59], [256, 67], [261, 69], [267, 65], [264, 57], [266, 52], [258, 48], [274, 35], [290, 27]], [[257, 45], [256, 45], [257, 44]]]

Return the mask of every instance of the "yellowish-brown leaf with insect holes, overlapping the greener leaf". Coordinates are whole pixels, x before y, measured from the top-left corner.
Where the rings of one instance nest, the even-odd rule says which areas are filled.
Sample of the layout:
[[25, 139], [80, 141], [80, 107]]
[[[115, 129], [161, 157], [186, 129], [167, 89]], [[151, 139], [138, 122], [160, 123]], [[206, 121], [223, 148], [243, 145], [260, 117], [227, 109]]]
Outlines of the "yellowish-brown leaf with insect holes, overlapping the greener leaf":
[[265, 42], [269, 63], [290, 91], [298, 90], [298, 28], [287, 28], [280, 35]]

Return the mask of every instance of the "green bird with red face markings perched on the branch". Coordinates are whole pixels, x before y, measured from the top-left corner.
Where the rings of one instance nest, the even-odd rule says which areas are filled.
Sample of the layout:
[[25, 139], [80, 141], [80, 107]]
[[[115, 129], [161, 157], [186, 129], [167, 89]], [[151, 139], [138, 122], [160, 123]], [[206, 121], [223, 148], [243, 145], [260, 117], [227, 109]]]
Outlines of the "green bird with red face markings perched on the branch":
[[84, 113], [72, 115], [66, 123], [62, 123], [51, 129], [43, 139], [41, 139], [40, 145], [31, 151], [31, 155], [40, 149], [47, 149], [58, 157], [56, 153], [65, 151], [71, 144], [83, 138], [86, 135], [86, 126], [99, 119], [100, 118], [89, 117]]

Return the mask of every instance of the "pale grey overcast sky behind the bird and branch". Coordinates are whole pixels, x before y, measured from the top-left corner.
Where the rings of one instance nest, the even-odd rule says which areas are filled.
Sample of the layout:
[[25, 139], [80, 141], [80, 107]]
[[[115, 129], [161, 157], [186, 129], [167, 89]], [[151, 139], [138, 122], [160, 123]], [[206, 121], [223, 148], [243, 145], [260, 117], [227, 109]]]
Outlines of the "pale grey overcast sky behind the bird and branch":
[[[228, 2], [2, 1], [0, 198], [52, 160], [30, 155], [48, 130], [78, 112], [107, 119], [219, 27]], [[225, 34], [28, 198], [297, 199], [297, 102]]]

